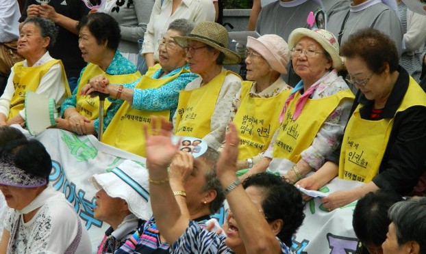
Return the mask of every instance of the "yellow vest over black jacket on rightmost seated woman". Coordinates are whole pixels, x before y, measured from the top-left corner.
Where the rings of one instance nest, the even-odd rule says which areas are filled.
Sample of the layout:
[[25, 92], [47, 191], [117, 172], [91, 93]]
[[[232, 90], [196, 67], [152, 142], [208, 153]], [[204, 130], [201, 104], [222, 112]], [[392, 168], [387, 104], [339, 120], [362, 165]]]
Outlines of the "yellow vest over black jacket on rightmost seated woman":
[[[397, 112], [409, 107], [426, 107], [426, 95], [410, 77], [407, 93]], [[371, 182], [379, 172], [394, 123], [392, 119], [371, 121], [362, 119], [359, 104], [349, 119], [340, 150], [339, 178], [358, 182]]]

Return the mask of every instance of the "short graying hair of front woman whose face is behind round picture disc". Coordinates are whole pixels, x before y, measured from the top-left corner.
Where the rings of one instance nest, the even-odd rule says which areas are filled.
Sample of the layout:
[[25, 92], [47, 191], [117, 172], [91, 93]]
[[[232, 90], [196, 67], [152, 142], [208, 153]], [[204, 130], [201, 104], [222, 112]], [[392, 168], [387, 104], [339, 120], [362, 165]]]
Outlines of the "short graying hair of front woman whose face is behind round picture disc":
[[204, 175], [205, 184], [201, 189], [201, 192], [216, 190], [216, 198], [214, 198], [214, 200], [209, 204], [210, 212], [213, 214], [222, 206], [223, 201], [225, 200], [222, 184], [216, 175], [216, 163], [219, 158], [219, 153], [208, 147], [205, 153], [199, 158], [203, 159], [205, 163], [210, 166], [210, 170]]

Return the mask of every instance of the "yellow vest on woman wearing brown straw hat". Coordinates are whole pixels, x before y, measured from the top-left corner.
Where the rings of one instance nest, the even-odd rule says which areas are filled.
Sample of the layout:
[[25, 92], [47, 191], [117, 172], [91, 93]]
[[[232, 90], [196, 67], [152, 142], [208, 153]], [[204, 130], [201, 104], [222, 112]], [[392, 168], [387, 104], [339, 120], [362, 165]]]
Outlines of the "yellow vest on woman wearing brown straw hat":
[[[210, 117], [229, 70], [224, 70], [208, 84], [190, 91], [180, 91], [175, 135], [202, 139], [210, 132]], [[238, 76], [238, 75], [237, 75]]]

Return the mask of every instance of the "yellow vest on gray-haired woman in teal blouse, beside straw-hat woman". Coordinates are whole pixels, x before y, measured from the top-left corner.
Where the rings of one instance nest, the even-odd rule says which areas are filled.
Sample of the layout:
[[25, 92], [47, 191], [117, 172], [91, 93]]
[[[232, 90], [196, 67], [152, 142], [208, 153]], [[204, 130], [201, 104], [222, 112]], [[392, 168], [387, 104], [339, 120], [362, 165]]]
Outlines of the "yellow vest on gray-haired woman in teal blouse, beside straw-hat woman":
[[[152, 79], [151, 76], [160, 68], [160, 64], [156, 64], [149, 68], [147, 74], [142, 76], [142, 79], [135, 88], [159, 88], [162, 85], [166, 85], [174, 79], [177, 79], [180, 74], [189, 72], [183, 68], [181, 72], [178, 72], [173, 76], [168, 76], [164, 79]], [[131, 104], [129, 102], [123, 102], [120, 109], [118, 109], [116, 115], [110, 122], [110, 125], [108, 125], [108, 128], [105, 130], [103, 143], [107, 143], [108, 145], [113, 145], [121, 150], [145, 157], [145, 135], [142, 130], [142, 124], [147, 123], [148, 126], [151, 126], [152, 116], [163, 116], [168, 119], [170, 117], [170, 110], [145, 111], [131, 109]], [[149, 128], [149, 130], [151, 130], [151, 128]]]

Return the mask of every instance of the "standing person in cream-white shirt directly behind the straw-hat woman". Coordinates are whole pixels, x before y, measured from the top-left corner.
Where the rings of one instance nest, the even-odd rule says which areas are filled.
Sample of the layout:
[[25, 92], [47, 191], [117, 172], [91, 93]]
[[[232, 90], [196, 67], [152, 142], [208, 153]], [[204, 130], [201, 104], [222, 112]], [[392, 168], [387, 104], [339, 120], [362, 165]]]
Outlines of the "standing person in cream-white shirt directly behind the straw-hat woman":
[[155, 0], [142, 44], [142, 55], [147, 67], [158, 62], [159, 41], [173, 20], [186, 18], [197, 25], [200, 21], [214, 21], [214, 17], [212, 0]]

